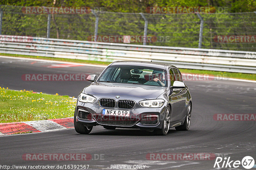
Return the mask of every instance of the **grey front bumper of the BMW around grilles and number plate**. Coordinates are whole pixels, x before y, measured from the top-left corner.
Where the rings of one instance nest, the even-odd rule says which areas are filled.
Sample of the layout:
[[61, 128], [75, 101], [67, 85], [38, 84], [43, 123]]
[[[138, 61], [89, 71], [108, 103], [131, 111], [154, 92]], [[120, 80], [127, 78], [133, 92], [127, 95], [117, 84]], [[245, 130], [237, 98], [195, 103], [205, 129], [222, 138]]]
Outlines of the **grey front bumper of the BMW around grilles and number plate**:
[[[139, 102], [145, 99], [142, 98], [134, 98], [129, 96], [120, 96], [120, 98], [116, 99], [116, 95], [110, 95], [108, 98], [115, 99], [116, 102], [118, 100], [126, 99], [135, 101], [135, 106], [133, 109], [119, 109], [117, 106], [115, 108], [104, 108], [99, 104], [99, 99], [104, 98], [105, 96], [97, 95], [96, 101], [94, 103], [83, 103], [77, 100], [76, 105], [76, 121], [84, 124], [85, 126], [112, 126], [116, 128], [136, 128], [136, 129], [161, 129], [162, 122], [164, 118], [164, 111], [166, 109], [166, 102], [161, 108], [147, 108], [141, 107]], [[118, 117], [118, 116], [105, 116], [102, 115], [103, 109], [111, 109], [111, 110], [124, 110], [130, 111], [130, 117]], [[86, 114], [90, 114], [89, 117], [79, 117], [78, 112], [86, 112]], [[148, 120], [154, 119], [156, 124], [149, 124]], [[146, 119], [146, 121], [145, 121]], [[151, 122], [152, 123], [152, 122]]]

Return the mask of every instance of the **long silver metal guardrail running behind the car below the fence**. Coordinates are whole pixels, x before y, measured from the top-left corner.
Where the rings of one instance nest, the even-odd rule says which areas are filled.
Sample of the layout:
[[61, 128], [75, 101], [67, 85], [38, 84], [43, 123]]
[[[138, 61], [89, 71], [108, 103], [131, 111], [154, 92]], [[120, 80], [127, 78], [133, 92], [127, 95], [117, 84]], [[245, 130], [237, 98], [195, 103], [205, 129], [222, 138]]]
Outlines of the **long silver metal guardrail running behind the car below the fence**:
[[179, 68], [256, 74], [256, 52], [0, 35], [0, 53], [114, 62], [156, 61]]

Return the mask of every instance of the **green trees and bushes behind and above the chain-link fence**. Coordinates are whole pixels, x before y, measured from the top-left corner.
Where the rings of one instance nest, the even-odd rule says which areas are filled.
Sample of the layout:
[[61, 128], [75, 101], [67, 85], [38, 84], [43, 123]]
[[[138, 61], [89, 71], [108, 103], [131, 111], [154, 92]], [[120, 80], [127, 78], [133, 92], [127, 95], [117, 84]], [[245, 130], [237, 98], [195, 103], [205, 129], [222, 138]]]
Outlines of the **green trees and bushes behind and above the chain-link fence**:
[[[157, 39], [147, 42], [147, 45], [194, 48], [198, 47], [200, 30], [200, 19], [196, 14], [147, 14], [146, 9], [152, 6], [213, 6], [217, 10], [215, 13], [201, 14], [204, 18], [203, 48], [255, 51], [256, 46], [256, 43], [221, 43], [214, 39], [218, 35], [255, 35], [256, 14], [252, 12], [256, 11], [255, 0], [0, 0], [0, 4], [4, 4], [1, 5], [4, 11], [4, 35], [46, 37], [48, 14], [25, 14], [21, 12], [21, 6], [101, 7], [101, 10], [107, 12], [97, 13], [99, 36], [142, 36], [145, 21], [139, 12], [143, 12], [148, 20], [147, 35]], [[53, 14], [50, 38], [91, 40], [94, 36], [95, 20], [92, 13]]]

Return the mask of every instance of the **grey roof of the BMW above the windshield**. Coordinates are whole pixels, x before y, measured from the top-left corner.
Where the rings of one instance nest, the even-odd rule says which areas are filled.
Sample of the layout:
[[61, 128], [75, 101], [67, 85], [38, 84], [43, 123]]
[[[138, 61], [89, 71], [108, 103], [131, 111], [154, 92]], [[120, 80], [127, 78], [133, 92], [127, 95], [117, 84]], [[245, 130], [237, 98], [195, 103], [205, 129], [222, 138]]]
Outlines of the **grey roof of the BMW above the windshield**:
[[[162, 69], [164, 69], [165, 66], [175, 67], [171, 64], [148, 62], [148, 61], [116, 61], [111, 64], [111, 66], [114, 66], [114, 65], [147, 66], [147, 67], [155, 67], [155, 68], [162, 68]], [[177, 67], [175, 67], [175, 68], [177, 68]]]

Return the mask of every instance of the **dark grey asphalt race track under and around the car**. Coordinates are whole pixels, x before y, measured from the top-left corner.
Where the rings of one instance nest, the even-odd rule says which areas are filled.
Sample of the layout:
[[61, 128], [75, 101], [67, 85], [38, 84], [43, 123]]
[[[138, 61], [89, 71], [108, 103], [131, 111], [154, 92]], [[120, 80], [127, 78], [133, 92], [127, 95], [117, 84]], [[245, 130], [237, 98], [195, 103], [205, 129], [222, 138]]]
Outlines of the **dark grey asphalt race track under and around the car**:
[[[50, 62], [0, 58], [0, 86], [77, 96], [88, 81], [23, 81], [22, 74], [99, 74], [103, 67], [48, 68]], [[170, 129], [166, 136], [134, 129], [93, 127], [89, 135], [74, 129], [0, 137], [0, 165], [146, 165], [145, 169], [215, 169], [213, 160], [148, 160], [148, 153], [214, 153], [256, 162], [256, 121], [216, 121], [214, 114], [255, 114], [256, 83], [214, 80], [186, 81], [192, 95], [192, 120], [188, 131]], [[26, 153], [90, 153], [93, 160], [47, 161], [22, 159]], [[94, 157], [103, 154], [101, 160]], [[222, 165], [221, 162], [220, 165]], [[254, 167], [256, 167], [254, 165]], [[119, 168], [118, 168], [119, 169]], [[133, 169], [133, 168], [132, 168]], [[221, 168], [228, 169], [228, 168]], [[236, 169], [244, 169], [241, 165]], [[253, 168], [255, 169], [255, 168]]]

